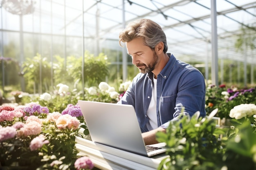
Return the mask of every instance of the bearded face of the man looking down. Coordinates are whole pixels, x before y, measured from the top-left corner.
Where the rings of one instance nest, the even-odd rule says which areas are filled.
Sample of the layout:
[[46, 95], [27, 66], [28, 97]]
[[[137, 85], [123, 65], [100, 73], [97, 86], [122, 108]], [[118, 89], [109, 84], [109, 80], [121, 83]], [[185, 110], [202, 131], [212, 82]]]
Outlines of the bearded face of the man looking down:
[[139, 68], [141, 73], [148, 73], [155, 69], [158, 62], [157, 53], [149, 46], [144, 45], [142, 38], [135, 38], [126, 43], [128, 54], [132, 57], [132, 64]]

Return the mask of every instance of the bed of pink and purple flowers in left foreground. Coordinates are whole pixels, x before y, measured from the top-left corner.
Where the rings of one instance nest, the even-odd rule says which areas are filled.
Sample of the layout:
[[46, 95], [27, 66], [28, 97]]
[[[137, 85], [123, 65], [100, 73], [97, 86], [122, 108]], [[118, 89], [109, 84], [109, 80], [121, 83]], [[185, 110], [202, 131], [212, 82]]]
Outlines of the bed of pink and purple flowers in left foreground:
[[49, 113], [36, 103], [0, 107], [0, 163], [29, 170], [92, 169], [88, 157], [77, 156], [80, 121], [69, 114]]

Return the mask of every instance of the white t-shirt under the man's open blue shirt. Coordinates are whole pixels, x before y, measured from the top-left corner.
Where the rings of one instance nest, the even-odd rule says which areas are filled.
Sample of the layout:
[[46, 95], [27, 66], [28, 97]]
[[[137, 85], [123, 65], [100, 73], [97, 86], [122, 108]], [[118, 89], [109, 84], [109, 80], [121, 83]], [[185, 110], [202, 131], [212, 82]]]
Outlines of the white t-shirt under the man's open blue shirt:
[[148, 111], [146, 113], [149, 122], [147, 124], [148, 130], [153, 130], [158, 128], [157, 126], [157, 79], [154, 78], [154, 87], [152, 89], [152, 97], [150, 104], [148, 106]]

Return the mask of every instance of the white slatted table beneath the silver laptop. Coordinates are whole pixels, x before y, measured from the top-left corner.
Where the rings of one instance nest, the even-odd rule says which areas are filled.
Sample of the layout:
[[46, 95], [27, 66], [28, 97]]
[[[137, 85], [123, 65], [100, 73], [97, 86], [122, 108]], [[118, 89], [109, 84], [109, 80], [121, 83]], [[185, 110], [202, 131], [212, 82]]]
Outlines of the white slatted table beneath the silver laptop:
[[76, 142], [79, 155], [90, 157], [94, 166], [101, 170], [156, 170], [161, 160], [167, 157], [165, 153], [144, 157], [81, 137], [76, 137]]

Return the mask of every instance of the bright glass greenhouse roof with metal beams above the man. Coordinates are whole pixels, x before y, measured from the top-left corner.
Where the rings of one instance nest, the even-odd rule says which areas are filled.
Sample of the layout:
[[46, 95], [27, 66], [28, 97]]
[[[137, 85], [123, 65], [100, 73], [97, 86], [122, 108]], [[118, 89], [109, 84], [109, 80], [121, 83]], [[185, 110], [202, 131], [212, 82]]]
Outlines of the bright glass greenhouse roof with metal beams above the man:
[[[3, 0], [2, 0], [3, 1]], [[119, 32], [132, 20], [148, 18], [164, 29], [168, 52], [180, 60], [211, 60], [211, 0], [35, 0], [32, 15], [23, 16], [23, 31], [98, 38], [99, 46], [122, 51]], [[123, 5], [124, 3], [124, 5]], [[217, 0], [218, 58], [256, 63], [256, 1]], [[123, 12], [124, 11], [124, 12]], [[83, 15], [84, 14], [84, 15]], [[3, 12], [2, 18], [18, 18]], [[83, 25], [84, 23], [84, 25]], [[82, 29], [84, 26], [84, 30]], [[3, 30], [19, 31], [4, 21]], [[238, 38], [254, 48], [235, 47]], [[113, 41], [106, 44], [105, 40]], [[109, 42], [108, 42], [109, 43]], [[245, 57], [246, 56], [246, 57]]]

